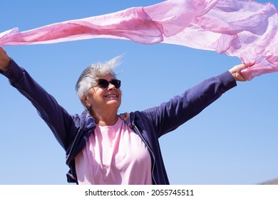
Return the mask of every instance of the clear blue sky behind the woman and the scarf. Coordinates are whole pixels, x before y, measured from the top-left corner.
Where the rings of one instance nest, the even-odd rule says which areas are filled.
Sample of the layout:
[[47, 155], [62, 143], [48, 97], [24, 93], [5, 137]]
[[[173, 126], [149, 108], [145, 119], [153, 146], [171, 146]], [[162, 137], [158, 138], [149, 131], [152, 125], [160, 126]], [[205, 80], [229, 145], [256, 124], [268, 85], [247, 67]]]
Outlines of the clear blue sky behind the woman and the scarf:
[[[108, 14], [158, 0], [1, 2], [0, 32]], [[259, 2], [267, 2], [260, 0]], [[278, 7], [278, 1], [272, 0]], [[74, 85], [91, 63], [125, 53], [117, 69], [119, 112], [143, 110], [240, 64], [180, 45], [92, 39], [4, 49], [68, 112], [81, 113]], [[197, 117], [160, 139], [172, 184], [256, 184], [278, 178], [278, 73], [240, 82]], [[0, 184], [67, 184], [65, 152], [31, 103], [0, 77]]]

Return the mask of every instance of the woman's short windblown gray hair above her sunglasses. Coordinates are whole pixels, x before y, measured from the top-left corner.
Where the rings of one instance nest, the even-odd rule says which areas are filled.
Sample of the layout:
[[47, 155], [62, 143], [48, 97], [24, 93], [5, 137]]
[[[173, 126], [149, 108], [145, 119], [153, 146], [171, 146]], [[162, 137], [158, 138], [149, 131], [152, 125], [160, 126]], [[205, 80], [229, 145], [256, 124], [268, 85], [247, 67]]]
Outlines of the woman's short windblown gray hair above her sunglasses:
[[[114, 69], [123, 61], [123, 55], [119, 55], [106, 62], [93, 63], [83, 70], [78, 81], [76, 82], [76, 92], [79, 99], [88, 94], [93, 85], [96, 84], [98, 77], [103, 75], [115, 75]], [[82, 102], [82, 101], [81, 101]]]

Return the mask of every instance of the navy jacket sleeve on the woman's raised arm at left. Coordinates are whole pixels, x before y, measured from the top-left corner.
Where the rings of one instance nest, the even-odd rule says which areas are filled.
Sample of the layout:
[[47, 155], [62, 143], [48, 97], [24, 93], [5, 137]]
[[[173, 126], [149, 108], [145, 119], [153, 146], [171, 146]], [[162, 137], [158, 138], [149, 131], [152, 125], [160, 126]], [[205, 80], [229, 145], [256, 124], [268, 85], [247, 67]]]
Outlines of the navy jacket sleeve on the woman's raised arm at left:
[[[58, 142], [66, 149], [68, 140], [68, 131], [74, 128], [73, 116], [68, 114], [61, 107], [56, 99], [29, 75], [24, 68], [20, 68], [14, 60], [11, 60], [11, 66], [6, 72], [1, 72], [6, 76], [11, 85], [15, 87], [22, 95], [36, 107], [40, 117], [46, 122]], [[30, 122], [30, 121], [29, 121]], [[30, 125], [31, 122], [30, 122]]]

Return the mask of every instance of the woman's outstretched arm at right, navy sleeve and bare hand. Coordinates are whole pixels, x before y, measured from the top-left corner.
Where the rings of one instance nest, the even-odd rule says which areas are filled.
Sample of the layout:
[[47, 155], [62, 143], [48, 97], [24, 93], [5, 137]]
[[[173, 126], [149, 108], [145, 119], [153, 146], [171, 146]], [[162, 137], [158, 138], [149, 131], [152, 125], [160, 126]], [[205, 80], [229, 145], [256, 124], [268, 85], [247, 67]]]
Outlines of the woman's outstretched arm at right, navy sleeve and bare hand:
[[192, 87], [182, 95], [177, 95], [159, 107], [146, 110], [153, 124], [158, 128], [158, 136], [173, 131], [187, 120], [195, 117], [207, 106], [215, 102], [223, 93], [237, 85], [236, 81], [245, 81], [241, 70], [252, 63], [235, 65], [229, 71], [211, 77]]

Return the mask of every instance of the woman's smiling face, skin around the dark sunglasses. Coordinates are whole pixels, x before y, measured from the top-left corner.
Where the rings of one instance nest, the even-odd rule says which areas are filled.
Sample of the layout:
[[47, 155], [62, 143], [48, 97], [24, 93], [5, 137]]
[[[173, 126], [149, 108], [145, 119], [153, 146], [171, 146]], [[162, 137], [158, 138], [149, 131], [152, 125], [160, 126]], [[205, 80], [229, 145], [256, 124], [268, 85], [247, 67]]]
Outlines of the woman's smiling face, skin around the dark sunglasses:
[[[111, 80], [115, 80], [115, 76], [109, 74], [99, 77], [98, 79], [108, 80], [108, 82], [110, 82]], [[93, 112], [105, 112], [105, 110], [108, 112], [111, 110], [117, 112], [120, 107], [121, 98], [122, 93], [120, 88], [116, 88], [111, 83], [109, 83], [106, 88], [100, 87], [97, 84], [89, 90], [84, 102], [87, 107], [91, 107]]]

